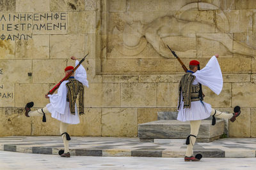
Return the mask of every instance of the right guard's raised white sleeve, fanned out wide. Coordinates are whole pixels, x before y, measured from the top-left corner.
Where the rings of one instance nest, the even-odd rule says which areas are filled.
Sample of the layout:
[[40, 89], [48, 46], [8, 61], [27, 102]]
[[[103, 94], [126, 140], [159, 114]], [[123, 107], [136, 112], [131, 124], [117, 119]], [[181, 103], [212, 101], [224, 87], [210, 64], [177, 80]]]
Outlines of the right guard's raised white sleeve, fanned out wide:
[[202, 85], [209, 87], [217, 95], [220, 94], [223, 87], [223, 78], [220, 65], [215, 56], [212, 56], [206, 66], [193, 73], [196, 79]]

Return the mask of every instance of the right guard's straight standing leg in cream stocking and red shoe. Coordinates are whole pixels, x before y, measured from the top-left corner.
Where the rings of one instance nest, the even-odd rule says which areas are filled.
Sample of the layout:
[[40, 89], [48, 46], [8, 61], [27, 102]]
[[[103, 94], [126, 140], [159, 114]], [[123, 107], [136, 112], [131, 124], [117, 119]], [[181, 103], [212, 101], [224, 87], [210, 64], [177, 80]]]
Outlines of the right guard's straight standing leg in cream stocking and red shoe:
[[187, 138], [187, 141], [189, 141], [189, 144], [187, 146], [187, 150], [185, 154], [185, 161], [189, 161], [189, 160], [198, 161], [195, 159], [195, 157], [193, 157], [193, 147], [196, 142], [196, 136], [198, 135], [200, 124], [201, 124], [201, 120], [190, 121], [190, 135]]

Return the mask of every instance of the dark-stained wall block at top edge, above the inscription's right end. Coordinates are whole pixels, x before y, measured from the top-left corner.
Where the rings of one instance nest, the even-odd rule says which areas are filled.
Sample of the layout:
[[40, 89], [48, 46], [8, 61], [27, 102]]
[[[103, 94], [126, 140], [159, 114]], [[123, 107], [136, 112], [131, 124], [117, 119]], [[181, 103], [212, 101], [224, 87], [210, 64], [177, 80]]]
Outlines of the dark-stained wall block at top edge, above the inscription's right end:
[[84, 11], [84, 0], [51, 0], [51, 11]]

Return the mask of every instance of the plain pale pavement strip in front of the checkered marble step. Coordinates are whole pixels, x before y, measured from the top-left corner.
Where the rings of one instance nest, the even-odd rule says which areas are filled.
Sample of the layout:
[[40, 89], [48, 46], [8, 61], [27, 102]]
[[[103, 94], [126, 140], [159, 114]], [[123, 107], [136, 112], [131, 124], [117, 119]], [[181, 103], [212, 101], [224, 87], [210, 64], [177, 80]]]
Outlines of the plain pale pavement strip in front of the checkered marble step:
[[256, 158], [204, 158], [184, 162], [182, 158], [156, 157], [84, 157], [63, 158], [57, 155], [0, 151], [0, 169], [255, 169]]

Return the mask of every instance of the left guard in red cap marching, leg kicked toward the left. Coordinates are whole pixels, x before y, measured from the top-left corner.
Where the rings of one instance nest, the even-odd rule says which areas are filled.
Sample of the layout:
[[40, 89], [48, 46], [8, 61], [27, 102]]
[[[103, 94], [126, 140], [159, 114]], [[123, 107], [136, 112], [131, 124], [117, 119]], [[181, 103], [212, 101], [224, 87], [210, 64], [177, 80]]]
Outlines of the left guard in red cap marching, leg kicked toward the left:
[[[87, 55], [86, 55], [87, 56]], [[85, 56], [85, 57], [86, 57]], [[84, 58], [85, 58], [84, 57]], [[60, 150], [61, 157], [70, 157], [68, 141], [70, 136], [67, 133], [68, 124], [79, 124], [79, 115], [84, 114], [84, 87], [89, 87], [87, 81], [86, 70], [81, 65], [84, 58], [79, 62], [76, 57], [71, 57], [76, 60], [76, 67], [68, 66], [65, 68], [65, 78], [60, 81], [45, 98], [49, 99], [50, 103], [44, 108], [31, 111], [34, 103], [27, 103], [25, 106], [26, 117], [43, 117], [43, 122], [46, 122], [45, 113], [51, 113], [52, 118], [60, 120], [60, 134], [63, 139], [65, 150]], [[57, 94], [52, 94], [58, 89]], [[76, 106], [76, 99], [79, 96], [79, 115]]]

